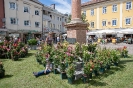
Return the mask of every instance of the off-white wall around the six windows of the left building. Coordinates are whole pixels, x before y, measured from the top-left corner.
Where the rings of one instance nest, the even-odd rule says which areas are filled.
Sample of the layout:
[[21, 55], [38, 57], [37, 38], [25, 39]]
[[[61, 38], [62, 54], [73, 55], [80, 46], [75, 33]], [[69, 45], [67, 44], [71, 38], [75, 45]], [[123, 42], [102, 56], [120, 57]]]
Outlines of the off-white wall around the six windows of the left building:
[[[10, 9], [10, 2], [15, 2], [17, 9]], [[29, 7], [29, 13], [24, 13], [24, 6]], [[39, 15], [35, 15], [35, 10]], [[30, 0], [5, 0], [5, 17], [7, 29], [42, 31], [42, 6]], [[11, 17], [17, 18], [18, 24], [11, 24]], [[24, 20], [30, 20], [30, 26], [25, 26]], [[35, 27], [35, 22], [40, 22], [39, 27]]]

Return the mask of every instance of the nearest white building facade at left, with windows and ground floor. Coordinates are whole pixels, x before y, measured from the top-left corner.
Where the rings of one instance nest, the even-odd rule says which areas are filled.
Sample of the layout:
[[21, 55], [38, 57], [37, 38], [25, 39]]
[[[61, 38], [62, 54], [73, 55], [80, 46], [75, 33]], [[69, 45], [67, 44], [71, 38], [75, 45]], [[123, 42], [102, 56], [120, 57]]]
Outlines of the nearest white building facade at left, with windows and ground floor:
[[42, 8], [38, 0], [4, 0], [5, 26], [10, 34], [27, 38], [41, 37]]

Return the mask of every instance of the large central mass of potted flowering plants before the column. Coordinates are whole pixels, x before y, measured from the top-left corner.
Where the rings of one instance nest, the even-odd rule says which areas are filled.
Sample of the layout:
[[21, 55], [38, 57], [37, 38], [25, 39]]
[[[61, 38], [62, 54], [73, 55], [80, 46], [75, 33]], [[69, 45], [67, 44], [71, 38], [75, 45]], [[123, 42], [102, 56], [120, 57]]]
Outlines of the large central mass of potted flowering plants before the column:
[[[83, 82], [88, 82], [92, 78], [92, 74], [97, 76], [103, 74], [110, 66], [117, 66], [120, 61], [121, 52], [117, 49], [101, 49], [97, 44], [75, 44], [75, 48], [69, 46], [67, 42], [58, 43], [57, 47], [42, 45], [36, 54], [37, 61], [41, 63], [49, 59], [54, 68], [60, 68], [60, 73], [66, 73], [68, 83], [73, 83], [76, 62], [82, 62]], [[40, 58], [41, 57], [41, 58]]]

